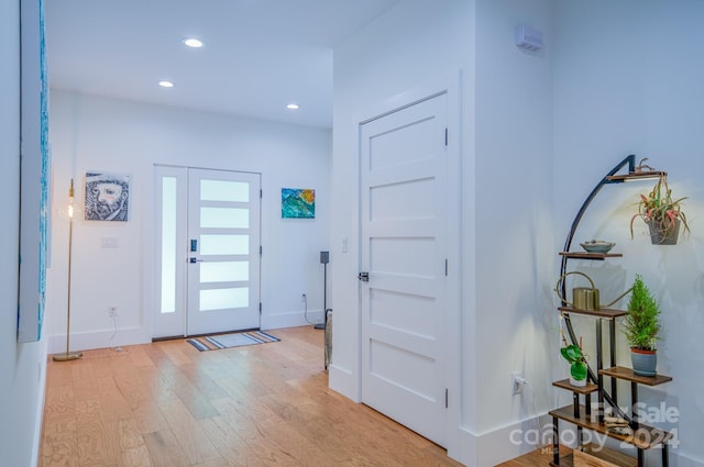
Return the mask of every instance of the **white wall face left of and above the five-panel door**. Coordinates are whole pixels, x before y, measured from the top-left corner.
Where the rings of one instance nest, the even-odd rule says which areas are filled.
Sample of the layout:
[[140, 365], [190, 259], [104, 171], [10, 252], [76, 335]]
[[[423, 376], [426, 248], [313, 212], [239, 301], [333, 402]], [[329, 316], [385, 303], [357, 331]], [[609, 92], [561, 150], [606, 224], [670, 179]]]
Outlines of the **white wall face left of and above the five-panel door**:
[[[333, 164], [331, 213], [332, 308], [334, 351], [331, 386], [359, 400], [360, 322], [358, 124], [374, 112], [408, 103], [418, 88], [457, 80], [470, 60], [458, 48], [470, 44], [471, 5], [431, 1], [402, 2], [334, 52]], [[454, 15], [452, 13], [455, 13]], [[448, 20], [452, 26], [446, 26]], [[455, 47], [453, 44], [457, 44]], [[433, 89], [435, 91], [441, 89]], [[414, 96], [415, 97], [415, 96]], [[342, 252], [342, 241], [350, 248]]]

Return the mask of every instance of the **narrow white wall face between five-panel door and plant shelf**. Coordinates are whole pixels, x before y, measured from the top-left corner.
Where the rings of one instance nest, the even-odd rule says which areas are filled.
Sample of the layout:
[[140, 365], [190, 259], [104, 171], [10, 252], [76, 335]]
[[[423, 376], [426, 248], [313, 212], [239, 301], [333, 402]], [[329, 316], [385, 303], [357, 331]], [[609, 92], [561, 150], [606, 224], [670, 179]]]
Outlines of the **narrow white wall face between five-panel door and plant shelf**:
[[[518, 25], [544, 48], [515, 45]], [[551, 286], [558, 256], [551, 215], [552, 2], [476, 3], [475, 226], [477, 465], [535, 449], [524, 434], [549, 410], [557, 355]], [[514, 371], [528, 381], [512, 394]], [[520, 443], [509, 442], [518, 430]]]

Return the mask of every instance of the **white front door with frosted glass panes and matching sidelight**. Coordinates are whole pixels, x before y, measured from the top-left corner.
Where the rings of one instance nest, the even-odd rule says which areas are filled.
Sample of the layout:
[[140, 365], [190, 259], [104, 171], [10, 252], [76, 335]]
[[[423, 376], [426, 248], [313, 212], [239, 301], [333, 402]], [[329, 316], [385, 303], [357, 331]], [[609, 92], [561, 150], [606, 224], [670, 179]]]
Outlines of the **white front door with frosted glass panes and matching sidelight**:
[[157, 167], [154, 337], [260, 326], [260, 175]]

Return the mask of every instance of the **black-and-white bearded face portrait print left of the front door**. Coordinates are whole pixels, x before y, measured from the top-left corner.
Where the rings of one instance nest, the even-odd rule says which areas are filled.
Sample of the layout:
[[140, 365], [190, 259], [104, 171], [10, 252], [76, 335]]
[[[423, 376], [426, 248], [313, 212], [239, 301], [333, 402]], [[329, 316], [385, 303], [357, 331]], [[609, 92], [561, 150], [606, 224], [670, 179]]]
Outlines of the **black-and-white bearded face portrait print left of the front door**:
[[86, 220], [127, 221], [129, 200], [129, 176], [86, 174]]

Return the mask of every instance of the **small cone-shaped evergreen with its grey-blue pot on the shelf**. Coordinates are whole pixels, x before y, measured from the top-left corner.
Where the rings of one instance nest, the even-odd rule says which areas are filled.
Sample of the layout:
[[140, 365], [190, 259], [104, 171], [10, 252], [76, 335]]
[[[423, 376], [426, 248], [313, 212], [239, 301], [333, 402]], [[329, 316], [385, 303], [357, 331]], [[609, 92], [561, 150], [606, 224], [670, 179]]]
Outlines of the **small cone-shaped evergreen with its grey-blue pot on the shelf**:
[[636, 275], [628, 301], [628, 314], [624, 320], [624, 334], [630, 345], [630, 358], [636, 375], [656, 376], [656, 342], [660, 327], [660, 307], [642, 277]]

